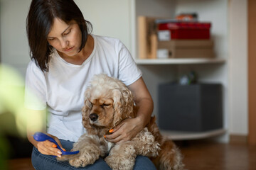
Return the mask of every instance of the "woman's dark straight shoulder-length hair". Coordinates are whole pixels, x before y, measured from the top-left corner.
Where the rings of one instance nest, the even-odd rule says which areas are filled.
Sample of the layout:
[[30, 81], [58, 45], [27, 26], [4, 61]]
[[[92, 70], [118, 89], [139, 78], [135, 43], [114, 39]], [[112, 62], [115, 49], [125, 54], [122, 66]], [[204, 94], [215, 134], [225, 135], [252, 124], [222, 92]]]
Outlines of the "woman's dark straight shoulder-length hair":
[[85, 47], [87, 36], [92, 31], [92, 24], [85, 20], [73, 0], [33, 0], [26, 19], [28, 44], [31, 49], [31, 59], [46, 72], [53, 48], [48, 44], [47, 36], [53, 26], [54, 18], [60, 18], [67, 24], [70, 21], [78, 23], [82, 32], [80, 50]]

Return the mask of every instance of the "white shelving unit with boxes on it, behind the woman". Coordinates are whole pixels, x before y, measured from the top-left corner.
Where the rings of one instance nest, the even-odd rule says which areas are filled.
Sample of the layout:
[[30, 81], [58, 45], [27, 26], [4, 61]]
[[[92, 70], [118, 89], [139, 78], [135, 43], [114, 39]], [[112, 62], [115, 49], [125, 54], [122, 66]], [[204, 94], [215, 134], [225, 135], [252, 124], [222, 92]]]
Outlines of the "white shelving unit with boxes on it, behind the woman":
[[[174, 17], [178, 13], [198, 13], [199, 21], [212, 23], [211, 37], [215, 44], [214, 58], [171, 58], [171, 59], [139, 59], [137, 40], [137, 17]], [[163, 135], [172, 140], [196, 140], [223, 135], [228, 140], [228, 1], [200, 0], [133, 0], [132, 1], [132, 47], [134, 60], [144, 73], [144, 81], [154, 100], [154, 114], [158, 115], [157, 86], [161, 83], [175, 81], [182, 74], [190, 71], [198, 73], [198, 81], [218, 82], [223, 84], [223, 129], [207, 132], [173, 132], [161, 130]], [[172, 114], [172, 113], [166, 113]]]

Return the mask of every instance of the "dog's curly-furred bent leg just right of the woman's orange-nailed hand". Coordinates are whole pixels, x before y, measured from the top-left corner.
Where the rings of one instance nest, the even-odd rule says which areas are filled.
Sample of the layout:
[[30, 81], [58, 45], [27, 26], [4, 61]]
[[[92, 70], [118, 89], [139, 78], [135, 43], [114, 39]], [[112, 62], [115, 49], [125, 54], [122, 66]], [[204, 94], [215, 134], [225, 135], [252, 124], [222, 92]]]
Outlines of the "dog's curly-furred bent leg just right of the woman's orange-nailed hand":
[[147, 128], [139, 132], [132, 142], [134, 142], [137, 155], [156, 157], [159, 154], [159, 142], [156, 142], [154, 135], [152, 135]]

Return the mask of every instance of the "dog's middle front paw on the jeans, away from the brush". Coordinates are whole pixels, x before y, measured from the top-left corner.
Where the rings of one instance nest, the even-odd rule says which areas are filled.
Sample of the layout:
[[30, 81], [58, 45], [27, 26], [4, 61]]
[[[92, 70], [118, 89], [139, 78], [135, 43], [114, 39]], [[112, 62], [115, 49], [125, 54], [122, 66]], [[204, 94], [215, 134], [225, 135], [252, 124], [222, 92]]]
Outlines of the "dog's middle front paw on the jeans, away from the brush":
[[105, 158], [105, 162], [113, 170], [132, 170], [136, 156], [132, 142], [128, 141], [120, 145], [115, 145], [110, 150], [109, 156]]

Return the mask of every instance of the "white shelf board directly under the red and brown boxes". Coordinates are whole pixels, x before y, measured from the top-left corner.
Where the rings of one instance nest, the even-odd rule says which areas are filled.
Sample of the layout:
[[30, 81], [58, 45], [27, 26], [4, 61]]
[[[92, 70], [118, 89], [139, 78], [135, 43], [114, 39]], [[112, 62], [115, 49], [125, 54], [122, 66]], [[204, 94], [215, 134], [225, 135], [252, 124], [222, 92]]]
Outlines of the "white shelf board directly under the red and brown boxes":
[[218, 58], [173, 58], [173, 59], [136, 59], [137, 64], [221, 64], [224, 59]]

